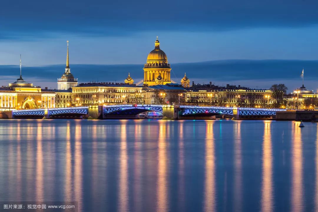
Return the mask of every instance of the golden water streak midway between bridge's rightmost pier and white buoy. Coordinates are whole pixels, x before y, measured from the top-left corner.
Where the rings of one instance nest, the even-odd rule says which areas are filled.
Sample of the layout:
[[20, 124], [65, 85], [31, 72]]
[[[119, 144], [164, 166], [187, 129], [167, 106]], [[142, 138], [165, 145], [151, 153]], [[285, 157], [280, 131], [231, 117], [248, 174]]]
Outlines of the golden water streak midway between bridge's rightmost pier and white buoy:
[[264, 122], [261, 211], [273, 211], [273, 157], [271, 121]]

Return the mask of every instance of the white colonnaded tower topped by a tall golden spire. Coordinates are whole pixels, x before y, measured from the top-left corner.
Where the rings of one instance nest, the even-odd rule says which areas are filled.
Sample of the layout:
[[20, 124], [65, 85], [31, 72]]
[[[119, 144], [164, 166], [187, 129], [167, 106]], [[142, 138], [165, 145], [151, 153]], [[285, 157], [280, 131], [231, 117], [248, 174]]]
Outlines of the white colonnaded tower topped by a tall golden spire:
[[61, 78], [58, 78], [58, 89], [59, 90], [68, 90], [74, 86], [77, 86], [77, 78], [74, 78], [71, 73], [69, 61], [68, 61], [68, 41], [67, 43], [67, 53], [66, 53], [66, 68], [64, 74]]

